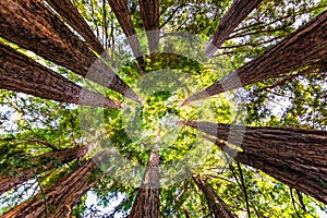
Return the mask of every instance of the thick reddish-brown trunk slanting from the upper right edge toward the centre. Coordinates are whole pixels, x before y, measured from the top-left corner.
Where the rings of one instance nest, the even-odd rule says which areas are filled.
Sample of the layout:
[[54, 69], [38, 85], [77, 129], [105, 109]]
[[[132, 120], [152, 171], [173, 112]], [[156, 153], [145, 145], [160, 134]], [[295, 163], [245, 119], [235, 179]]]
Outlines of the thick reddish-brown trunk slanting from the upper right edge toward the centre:
[[322, 63], [327, 59], [326, 33], [327, 11], [235, 72], [189, 97], [184, 105], [267, 78], [284, 76], [310, 64]]

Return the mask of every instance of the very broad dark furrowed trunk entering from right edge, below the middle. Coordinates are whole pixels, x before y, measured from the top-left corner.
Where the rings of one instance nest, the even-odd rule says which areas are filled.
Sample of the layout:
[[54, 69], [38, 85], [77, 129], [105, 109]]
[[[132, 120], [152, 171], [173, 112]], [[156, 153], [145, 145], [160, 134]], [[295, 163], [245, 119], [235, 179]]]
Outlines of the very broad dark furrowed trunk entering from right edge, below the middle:
[[222, 141], [233, 138], [230, 143], [242, 148], [235, 160], [327, 203], [326, 131], [278, 128], [246, 128], [244, 131], [244, 126], [208, 122], [184, 124]]

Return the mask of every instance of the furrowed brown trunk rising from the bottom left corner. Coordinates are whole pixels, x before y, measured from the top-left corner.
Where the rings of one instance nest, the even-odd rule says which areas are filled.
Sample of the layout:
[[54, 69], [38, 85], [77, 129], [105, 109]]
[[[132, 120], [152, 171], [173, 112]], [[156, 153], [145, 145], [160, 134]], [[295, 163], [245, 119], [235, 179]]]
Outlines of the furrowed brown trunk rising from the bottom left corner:
[[35, 218], [35, 217], [69, 217], [71, 207], [73, 207], [96, 182], [89, 182], [90, 171], [95, 169], [96, 164], [88, 160], [78, 169], [56, 182], [53, 185], [45, 190], [47, 209], [43, 192], [39, 192], [36, 197], [28, 199], [8, 213], [0, 216], [1, 218]]

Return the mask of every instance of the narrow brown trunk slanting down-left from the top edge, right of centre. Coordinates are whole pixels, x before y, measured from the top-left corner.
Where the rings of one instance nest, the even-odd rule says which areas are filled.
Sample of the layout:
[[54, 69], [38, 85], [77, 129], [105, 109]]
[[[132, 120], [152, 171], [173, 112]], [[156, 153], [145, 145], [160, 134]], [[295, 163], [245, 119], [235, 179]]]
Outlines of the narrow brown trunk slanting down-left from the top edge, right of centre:
[[230, 9], [222, 16], [219, 26], [205, 49], [207, 56], [213, 56], [223, 44], [238, 25], [262, 2], [263, 0], [234, 0]]

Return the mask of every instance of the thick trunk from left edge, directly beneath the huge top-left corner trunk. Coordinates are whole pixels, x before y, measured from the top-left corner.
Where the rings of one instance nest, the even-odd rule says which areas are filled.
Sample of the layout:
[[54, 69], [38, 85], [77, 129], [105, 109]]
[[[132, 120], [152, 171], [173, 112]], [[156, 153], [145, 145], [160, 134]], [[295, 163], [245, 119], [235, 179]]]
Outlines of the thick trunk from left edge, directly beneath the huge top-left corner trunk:
[[0, 43], [0, 88], [76, 105], [120, 108], [120, 102], [82, 88]]

